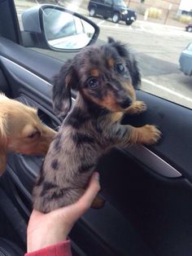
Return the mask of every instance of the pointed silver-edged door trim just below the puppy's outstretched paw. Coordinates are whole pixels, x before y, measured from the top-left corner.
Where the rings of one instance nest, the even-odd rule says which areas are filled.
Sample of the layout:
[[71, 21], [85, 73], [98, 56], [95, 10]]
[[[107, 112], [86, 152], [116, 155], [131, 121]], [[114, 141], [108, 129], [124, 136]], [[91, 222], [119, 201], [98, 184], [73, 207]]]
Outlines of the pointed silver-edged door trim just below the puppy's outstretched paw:
[[170, 166], [168, 162], [157, 156], [149, 148], [142, 145], [133, 145], [127, 148], [125, 152], [128, 152], [137, 161], [142, 162], [145, 166], [167, 178], [180, 178], [182, 174], [174, 167]]

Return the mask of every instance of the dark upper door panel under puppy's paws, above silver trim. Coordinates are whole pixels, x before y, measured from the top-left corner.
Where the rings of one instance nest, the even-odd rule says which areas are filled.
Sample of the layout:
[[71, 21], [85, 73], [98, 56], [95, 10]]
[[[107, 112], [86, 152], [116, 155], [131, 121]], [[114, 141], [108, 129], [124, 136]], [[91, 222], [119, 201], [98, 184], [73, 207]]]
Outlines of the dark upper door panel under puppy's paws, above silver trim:
[[143, 91], [137, 92], [137, 98], [146, 103], [146, 113], [138, 117], [125, 117], [124, 123], [129, 122], [134, 126], [149, 123], [158, 126], [162, 131], [162, 139], [149, 148], [191, 181], [191, 110]]

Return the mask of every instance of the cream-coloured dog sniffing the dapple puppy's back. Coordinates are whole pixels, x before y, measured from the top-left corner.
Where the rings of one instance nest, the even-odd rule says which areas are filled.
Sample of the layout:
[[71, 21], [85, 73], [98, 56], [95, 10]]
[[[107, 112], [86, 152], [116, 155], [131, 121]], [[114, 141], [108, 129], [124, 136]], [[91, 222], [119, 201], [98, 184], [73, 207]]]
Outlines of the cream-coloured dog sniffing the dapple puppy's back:
[[7, 152], [45, 156], [56, 132], [43, 126], [37, 109], [0, 93], [0, 175]]

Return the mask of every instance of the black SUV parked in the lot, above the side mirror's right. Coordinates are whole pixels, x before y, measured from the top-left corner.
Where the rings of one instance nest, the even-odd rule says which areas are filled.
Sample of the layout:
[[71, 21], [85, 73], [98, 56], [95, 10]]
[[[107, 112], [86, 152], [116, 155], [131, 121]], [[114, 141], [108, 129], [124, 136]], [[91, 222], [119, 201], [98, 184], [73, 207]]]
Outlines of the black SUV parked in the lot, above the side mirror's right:
[[130, 25], [137, 20], [137, 13], [130, 10], [123, 0], [90, 0], [89, 15], [102, 15], [104, 19], [111, 18], [114, 23], [120, 20]]

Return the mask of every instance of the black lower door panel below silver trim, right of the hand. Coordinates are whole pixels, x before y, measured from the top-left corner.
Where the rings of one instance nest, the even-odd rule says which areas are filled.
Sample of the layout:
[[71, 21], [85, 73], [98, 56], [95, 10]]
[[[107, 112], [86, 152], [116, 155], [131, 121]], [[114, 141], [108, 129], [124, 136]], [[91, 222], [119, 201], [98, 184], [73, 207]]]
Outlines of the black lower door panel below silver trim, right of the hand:
[[155, 174], [117, 150], [97, 170], [103, 196], [129, 219], [155, 255], [190, 255], [192, 191], [187, 179]]

